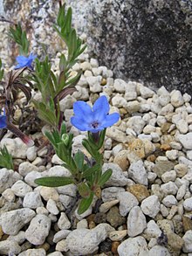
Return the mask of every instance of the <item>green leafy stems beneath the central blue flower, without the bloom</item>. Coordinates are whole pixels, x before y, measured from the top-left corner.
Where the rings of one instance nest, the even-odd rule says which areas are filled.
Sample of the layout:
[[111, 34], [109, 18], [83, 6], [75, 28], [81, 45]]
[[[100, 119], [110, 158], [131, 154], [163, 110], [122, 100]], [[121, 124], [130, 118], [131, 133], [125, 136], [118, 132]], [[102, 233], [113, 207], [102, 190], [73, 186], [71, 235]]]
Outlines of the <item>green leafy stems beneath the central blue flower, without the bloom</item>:
[[92, 155], [92, 159], [86, 159], [83, 152], [78, 150], [72, 156], [72, 134], [66, 133], [65, 123], [62, 124], [60, 131], [54, 129], [51, 133], [45, 135], [51, 142], [58, 157], [64, 162], [63, 166], [71, 172], [71, 177], [42, 177], [35, 182], [39, 185], [58, 187], [68, 183], [77, 185], [79, 195], [82, 197], [79, 203], [79, 214], [83, 213], [93, 202], [93, 195], [97, 193], [100, 186], [112, 175], [112, 170], [106, 170], [102, 174], [103, 155], [99, 149], [103, 146], [106, 131], [101, 131], [97, 142], [94, 142], [94, 136], [89, 134], [88, 139], [84, 140], [86, 149]]

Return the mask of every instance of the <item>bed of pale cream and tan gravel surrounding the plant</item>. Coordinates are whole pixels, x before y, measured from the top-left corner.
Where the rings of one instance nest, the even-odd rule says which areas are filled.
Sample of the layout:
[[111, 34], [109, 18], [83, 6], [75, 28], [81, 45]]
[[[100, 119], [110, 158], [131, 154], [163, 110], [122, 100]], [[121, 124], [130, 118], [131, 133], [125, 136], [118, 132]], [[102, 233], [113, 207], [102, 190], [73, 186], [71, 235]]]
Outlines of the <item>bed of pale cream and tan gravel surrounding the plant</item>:
[[[55, 71], [56, 65], [58, 56]], [[87, 53], [72, 73], [79, 69], [77, 92], [60, 103], [74, 134], [73, 151], [82, 149], [86, 136], [70, 124], [73, 102], [106, 95], [111, 113], [121, 117], [106, 131], [103, 171], [111, 168], [113, 175], [101, 198], [79, 215], [73, 184], [47, 188], [34, 183], [42, 176], [70, 176], [58, 157], [45, 164], [48, 149], [27, 148], [9, 133], [1, 146], [10, 150], [18, 170], [0, 170], [0, 255], [191, 256], [190, 95], [114, 79]], [[45, 129], [31, 137], [41, 137]]]

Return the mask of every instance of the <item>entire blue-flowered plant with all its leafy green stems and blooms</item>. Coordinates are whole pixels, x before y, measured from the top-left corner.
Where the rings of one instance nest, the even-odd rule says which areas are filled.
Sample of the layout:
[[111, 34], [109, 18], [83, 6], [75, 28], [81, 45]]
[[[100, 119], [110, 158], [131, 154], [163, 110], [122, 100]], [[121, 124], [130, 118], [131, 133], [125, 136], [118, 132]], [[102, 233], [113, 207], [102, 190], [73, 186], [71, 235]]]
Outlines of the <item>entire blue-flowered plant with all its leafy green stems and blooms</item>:
[[[22, 113], [29, 106], [35, 109], [38, 118], [51, 126], [51, 132], [45, 132], [45, 135], [62, 160], [63, 166], [71, 173], [71, 176], [67, 177], [42, 177], [35, 182], [50, 187], [74, 183], [81, 197], [78, 210], [81, 214], [92, 204], [94, 195], [100, 196], [101, 187], [112, 175], [112, 170], [102, 171], [102, 149], [106, 128], [117, 122], [120, 115], [109, 114], [106, 96], [99, 97], [93, 107], [84, 101], [76, 101], [73, 105], [74, 116], [71, 118], [71, 123], [79, 130], [87, 131], [87, 138], [82, 144], [89, 157], [80, 150], [75, 154], [72, 153], [73, 135], [66, 131], [64, 114], [60, 110], [59, 101], [76, 90], [75, 86], [79, 82], [81, 71], [72, 76], [72, 66], [78, 61], [79, 55], [85, 51], [86, 45], [82, 45], [81, 39], [72, 28], [72, 9], [66, 10], [65, 4], [60, 4], [54, 29], [65, 42], [67, 49], [66, 55], [60, 54], [58, 76], [51, 70], [51, 61], [48, 56], [40, 60], [29, 51], [30, 42], [21, 24], [10, 28], [10, 38], [17, 43], [20, 55], [17, 56], [17, 66], [8, 73], [7, 80], [3, 80], [0, 62], [0, 79], [3, 86], [1, 100], [3, 114], [0, 115], [0, 128], [10, 129], [28, 145], [32, 145], [31, 139], [24, 135], [13, 122], [17, 107], [22, 108]], [[38, 90], [41, 99], [33, 99], [31, 90]], [[22, 106], [18, 100], [19, 91], [23, 91], [26, 97], [26, 102]], [[6, 149], [2, 150], [4, 150], [2, 157], [8, 158]]]

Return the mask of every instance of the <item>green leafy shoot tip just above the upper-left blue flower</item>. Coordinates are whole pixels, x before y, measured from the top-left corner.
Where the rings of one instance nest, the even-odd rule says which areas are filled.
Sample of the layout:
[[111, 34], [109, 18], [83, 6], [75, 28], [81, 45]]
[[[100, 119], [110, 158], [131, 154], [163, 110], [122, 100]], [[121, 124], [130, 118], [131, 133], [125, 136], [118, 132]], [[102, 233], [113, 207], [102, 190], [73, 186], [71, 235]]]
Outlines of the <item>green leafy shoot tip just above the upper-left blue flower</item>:
[[27, 55], [30, 43], [27, 39], [26, 31], [22, 30], [21, 24], [17, 24], [15, 28], [10, 27], [9, 36], [17, 43], [19, 55]]

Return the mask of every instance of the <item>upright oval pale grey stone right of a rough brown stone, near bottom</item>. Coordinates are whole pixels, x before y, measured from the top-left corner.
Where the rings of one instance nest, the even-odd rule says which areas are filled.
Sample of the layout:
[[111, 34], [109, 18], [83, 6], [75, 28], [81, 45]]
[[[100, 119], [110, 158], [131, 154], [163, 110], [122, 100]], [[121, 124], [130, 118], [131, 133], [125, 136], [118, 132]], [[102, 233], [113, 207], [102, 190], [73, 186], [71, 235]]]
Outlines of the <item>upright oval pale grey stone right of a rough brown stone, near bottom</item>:
[[147, 226], [145, 215], [139, 206], [134, 206], [127, 218], [127, 234], [129, 237], [136, 237], [141, 234]]

